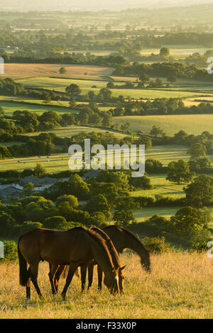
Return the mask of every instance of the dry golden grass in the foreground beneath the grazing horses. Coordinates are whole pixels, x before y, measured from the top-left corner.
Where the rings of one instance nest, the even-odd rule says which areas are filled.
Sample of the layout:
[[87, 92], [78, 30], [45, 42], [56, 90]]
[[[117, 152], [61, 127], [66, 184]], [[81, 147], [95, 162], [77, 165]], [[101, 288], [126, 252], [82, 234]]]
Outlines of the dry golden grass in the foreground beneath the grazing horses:
[[[0, 264], [0, 318], [211, 318], [213, 317], [213, 259], [187, 252], [154, 255], [152, 273], [141, 269], [138, 256], [121, 255], [125, 293], [113, 296], [104, 286], [97, 291], [97, 273], [90, 292], [80, 292], [74, 277], [62, 303], [50, 293], [48, 264], [41, 263], [39, 285], [43, 300], [32, 288], [26, 304], [25, 288], [18, 285], [18, 264]], [[96, 270], [95, 270], [96, 271]], [[60, 291], [65, 281], [60, 281]]]

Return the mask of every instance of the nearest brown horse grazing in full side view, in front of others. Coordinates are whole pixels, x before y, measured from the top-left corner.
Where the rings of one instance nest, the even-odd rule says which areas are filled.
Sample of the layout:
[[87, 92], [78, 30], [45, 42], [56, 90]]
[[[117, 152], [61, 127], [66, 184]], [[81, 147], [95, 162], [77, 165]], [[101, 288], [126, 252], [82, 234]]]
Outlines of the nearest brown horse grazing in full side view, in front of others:
[[[111, 293], [119, 293], [119, 273], [114, 268], [108, 247], [96, 232], [76, 227], [66, 231], [35, 229], [27, 232], [18, 240], [19, 278], [21, 286], [26, 286], [26, 297], [31, 298], [31, 281], [38, 295], [38, 264], [50, 264], [50, 283], [55, 292], [54, 277], [60, 265], [69, 265], [62, 298], [78, 266], [81, 267], [82, 284], [85, 284], [87, 266], [92, 260], [104, 271], [104, 284]], [[29, 267], [27, 269], [27, 263]]]

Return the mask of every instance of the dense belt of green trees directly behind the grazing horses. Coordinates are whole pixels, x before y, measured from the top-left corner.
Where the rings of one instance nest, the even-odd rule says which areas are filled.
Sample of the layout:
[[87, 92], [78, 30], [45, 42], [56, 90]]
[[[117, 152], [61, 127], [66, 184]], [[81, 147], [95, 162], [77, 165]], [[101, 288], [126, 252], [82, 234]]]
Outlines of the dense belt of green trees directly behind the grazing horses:
[[[147, 176], [144, 177], [143, 186], [147, 186]], [[133, 210], [165, 206], [168, 198], [130, 198], [128, 193], [135, 185], [138, 186], [132, 183], [129, 171], [102, 170], [97, 179], [87, 181], [77, 173], [71, 174], [68, 181], [58, 181], [40, 195], [33, 195], [28, 188], [22, 198], [0, 204], [1, 235], [18, 237], [35, 227], [58, 230], [79, 225], [102, 227], [111, 217], [117, 225], [138, 226]], [[143, 188], [142, 181], [140, 186]], [[206, 207], [212, 205], [213, 179], [197, 176], [184, 191], [185, 198], [181, 202], [176, 200], [183, 208], [170, 220], [154, 215], [148, 222], [139, 223], [139, 227], [142, 232], [155, 228], [158, 235], [180, 237], [190, 247], [199, 249], [206, 246], [210, 237], [211, 215]], [[85, 203], [80, 204], [82, 200]]]

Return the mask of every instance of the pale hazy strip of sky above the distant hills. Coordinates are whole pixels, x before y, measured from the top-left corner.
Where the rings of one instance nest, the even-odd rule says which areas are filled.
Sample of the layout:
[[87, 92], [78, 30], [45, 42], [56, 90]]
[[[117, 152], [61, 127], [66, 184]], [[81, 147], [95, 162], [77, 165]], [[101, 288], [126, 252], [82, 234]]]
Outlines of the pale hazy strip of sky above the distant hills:
[[212, 4], [213, 0], [0, 0], [1, 11], [121, 10]]

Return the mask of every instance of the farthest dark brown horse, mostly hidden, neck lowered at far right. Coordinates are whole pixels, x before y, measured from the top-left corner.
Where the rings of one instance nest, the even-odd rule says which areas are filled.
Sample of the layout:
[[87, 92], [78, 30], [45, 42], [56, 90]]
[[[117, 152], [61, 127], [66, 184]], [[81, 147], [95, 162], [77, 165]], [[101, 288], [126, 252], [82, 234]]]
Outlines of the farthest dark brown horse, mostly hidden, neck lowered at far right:
[[[111, 239], [111, 242], [114, 244], [116, 252], [119, 254], [123, 253], [126, 249], [132, 249], [138, 256], [141, 258], [141, 265], [147, 272], [151, 272], [151, 252], [144, 247], [140, 240], [133, 235], [129, 230], [126, 230], [124, 227], [119, 227], [117, 225], [109, 225], [102, 229]], [[61, 273], [65, 271], [65, 266], [60, 266], [57, 273], [55, 274], [55, 285], [58, 286], [58, 281], [60, 279]], [[100, 272], [99, 275], [99, 289], [101, 289], [102, 281]], [[89, 267], [89, 286], [92, 286], [93, 278], [93, 269], [92, 266]]]

